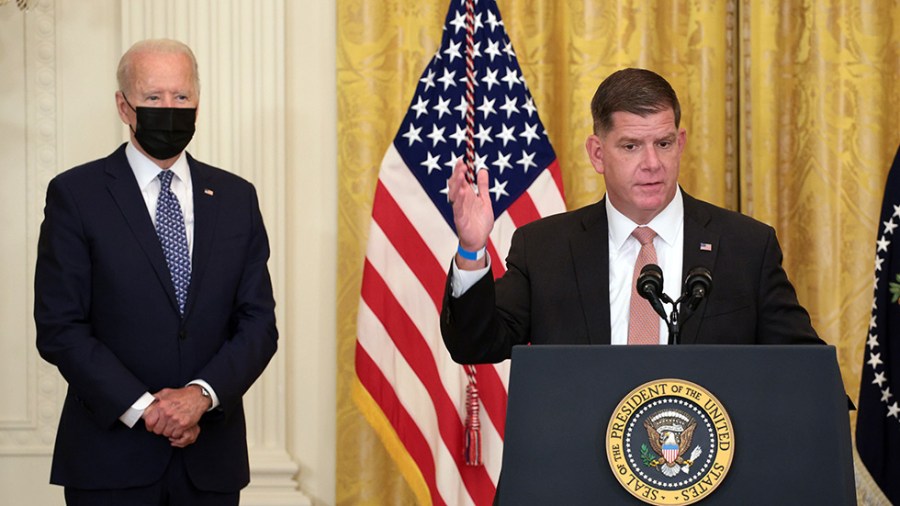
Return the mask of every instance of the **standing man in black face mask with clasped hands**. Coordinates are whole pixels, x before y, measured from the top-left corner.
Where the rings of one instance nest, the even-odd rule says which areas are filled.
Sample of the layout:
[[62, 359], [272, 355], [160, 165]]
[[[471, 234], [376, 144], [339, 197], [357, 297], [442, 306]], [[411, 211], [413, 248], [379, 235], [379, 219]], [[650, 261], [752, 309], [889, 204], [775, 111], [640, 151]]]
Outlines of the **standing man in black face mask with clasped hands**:
[[69, 384], [50, 481], [74, 505], [237, 505], [241, 398], [277, 347], [256, 192], [184, 151], [187, 46], [138, 42], [118, 82], [130, 141], [47, 189], [37, 346]]

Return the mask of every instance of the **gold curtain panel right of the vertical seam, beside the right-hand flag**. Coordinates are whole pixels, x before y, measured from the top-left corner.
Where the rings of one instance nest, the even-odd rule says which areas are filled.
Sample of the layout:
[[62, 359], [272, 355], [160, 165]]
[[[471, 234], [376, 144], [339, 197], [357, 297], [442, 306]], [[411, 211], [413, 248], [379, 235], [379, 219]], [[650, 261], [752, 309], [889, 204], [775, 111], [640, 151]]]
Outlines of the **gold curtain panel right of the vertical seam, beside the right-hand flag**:
[[855, 397], [900, 143], [900, 3], [744, 0], [740, 10], [740, 210], [778, 230]]

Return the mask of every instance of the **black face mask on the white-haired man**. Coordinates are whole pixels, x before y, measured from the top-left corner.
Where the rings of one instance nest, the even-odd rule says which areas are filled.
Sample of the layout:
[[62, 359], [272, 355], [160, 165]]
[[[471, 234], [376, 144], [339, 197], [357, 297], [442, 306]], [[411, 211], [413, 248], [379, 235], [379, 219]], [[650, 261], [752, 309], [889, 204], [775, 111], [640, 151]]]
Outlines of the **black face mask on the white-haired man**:
[[[124, 97], [124, 95], [123, 95]], [[131, 103], [125, 99], [128, 107]], [[168, 160], [184, 151], [196, 130], [197, 108], [138, 107], [134, 138], [148, 155], [157, 160]]]

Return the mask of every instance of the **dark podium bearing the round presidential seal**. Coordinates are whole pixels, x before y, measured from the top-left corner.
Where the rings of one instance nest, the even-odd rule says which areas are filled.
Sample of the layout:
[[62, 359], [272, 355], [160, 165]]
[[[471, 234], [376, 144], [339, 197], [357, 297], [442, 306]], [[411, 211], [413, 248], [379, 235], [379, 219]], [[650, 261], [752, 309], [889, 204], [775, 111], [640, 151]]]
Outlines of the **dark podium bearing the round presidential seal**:
[[[623, 413], [646, 412], [644, 423], [650, 425], [654, 392], [654, 402], [659, 403], [669, 402], [663, 394], [672, 392], [665, 386], [662, 391], [633, 392], [642, 385], [658, 386], [660, 381], [699, 385], [730, 419], [728, 432], [720, 431], [719, 441], [715, 441], [716, 430], [709, 431], [713, 443], [705, 446], [701, 436], [693, 436], [691, 446], [700, 447], [695, 450], [698, 462], [685, 468], [690, 472], [669, 481], [687, 480], [701, 464], [714, 470], [716, 463], [707, 462], [707, 456], [720, 447], [727, 451], [716, 453], [716, 459], [724, 462], [727, 457], [729, 467], [720, 479], [709, 477], [714, 490], [702, 483], [687, 492], [657, 490], [653, 492], [657, 501], [703, 506], [856, 504], [847, 397], [834, 347], [763, 345], [515, 347], [499, 504], [642, 504], [639, 496], [648, 493], [642, 480], [632, 480], [629, 491], [615, 471], [624, 475], [626, 466], [611, 465], [608, 453], [616, 448], [618, 461], [627, 463], [621, 455], [621, 438], [616, 436], [628, 427], [638, 446], [637, 437], [647, 430], [640, 423], [617, 423], [613, 416], [617, 409], [622, 419]], [[630, 395], [633, 402], [628, 400]], [[701, 427], [717, 427], [713, 419], [720, 418], [719, 406], [705, 397], [697, 399], [716, 412], [708, 418], [691, 418], [697, 418]], [[639, 410], [642, 400], [648, 401], [648, 408]], [[656, 420], [679, 411], [659, 406], [653, 423], [661, 424]], [[611, 422], [619, 429], [612, 435]], [[629, 451], [632, 460], [640, 460], [637, 447]], [[646, 444], [643, 451], [649, 455], [645, 462], [662, 454]], [[689, 453], [680, 462], [686, 462]], [[665, 479], [654, 476], [662, 477], [655, 474], [656, 469], [666, 465], [639, 474], [664, 484]], [[698, 491], [703, 496], [699, 499]]]

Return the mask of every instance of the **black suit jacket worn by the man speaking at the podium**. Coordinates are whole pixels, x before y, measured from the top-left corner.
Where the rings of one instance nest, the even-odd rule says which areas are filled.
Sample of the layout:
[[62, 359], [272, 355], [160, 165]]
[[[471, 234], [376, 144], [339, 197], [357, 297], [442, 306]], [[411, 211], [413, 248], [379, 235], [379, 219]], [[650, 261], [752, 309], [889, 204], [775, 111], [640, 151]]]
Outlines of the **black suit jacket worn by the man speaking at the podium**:
[[[713, 287], [681, 343], [822, 343], [781, 266], [774, 229], [682, 195], [684, 269], [706, 267]], [[453, 359], [499, 362], [524, 343], [609, 344], [608, 235], [600, 201], [516, 230], [496, 284], [487, 275], [454, 299], [448, 276], [441, 333]]]

